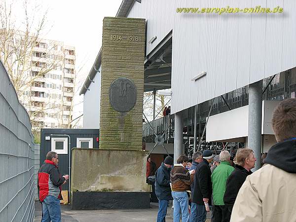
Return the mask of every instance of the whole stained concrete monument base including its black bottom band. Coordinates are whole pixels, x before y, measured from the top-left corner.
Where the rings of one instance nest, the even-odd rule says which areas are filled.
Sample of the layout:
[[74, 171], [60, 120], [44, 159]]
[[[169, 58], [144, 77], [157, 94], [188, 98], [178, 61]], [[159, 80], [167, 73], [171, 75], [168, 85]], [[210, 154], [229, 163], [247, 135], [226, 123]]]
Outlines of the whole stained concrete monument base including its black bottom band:
[[151, 186], [146, 183], [147, 154], [142, 150], [74, 148], [73, 209], [148, 208]]

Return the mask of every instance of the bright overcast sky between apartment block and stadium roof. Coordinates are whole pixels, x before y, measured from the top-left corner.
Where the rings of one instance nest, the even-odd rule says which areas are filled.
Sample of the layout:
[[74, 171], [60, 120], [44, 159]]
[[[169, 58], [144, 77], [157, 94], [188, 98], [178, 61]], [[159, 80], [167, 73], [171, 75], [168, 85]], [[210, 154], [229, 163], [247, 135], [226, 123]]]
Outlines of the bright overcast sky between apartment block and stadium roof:
[[[41, 0], [48, 8], [44, 38], [64, 41], [76, 48], [78, 86], [83, 84], [102, 45], [103, 18], [115, 16], [122, 0]], [[30, 1], [29, 1], [30, 2]], [[80, 68], [82, 68], [80, 70]], [[80, 71], [79, 71], [80, 70]], [[74, 98], [73, 118], [83, 112], [83, 96]], [[82, 122], [81, 122], [82, 125]]]

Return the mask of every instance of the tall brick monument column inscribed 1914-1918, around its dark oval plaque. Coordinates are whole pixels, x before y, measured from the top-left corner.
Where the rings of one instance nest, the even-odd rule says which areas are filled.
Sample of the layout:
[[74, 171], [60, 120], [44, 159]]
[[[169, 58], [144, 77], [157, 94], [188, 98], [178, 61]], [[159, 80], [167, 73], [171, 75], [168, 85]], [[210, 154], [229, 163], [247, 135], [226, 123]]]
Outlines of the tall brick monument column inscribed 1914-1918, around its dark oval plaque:
[[[142, 150], [144, 52], [144, 19], [104, 18], [100, 115], [102, 149]], [[119, 77], [129, 78], [136, 85], [136, 104], [128, 112], [115, 111], [110, 105], [111, 83]]]

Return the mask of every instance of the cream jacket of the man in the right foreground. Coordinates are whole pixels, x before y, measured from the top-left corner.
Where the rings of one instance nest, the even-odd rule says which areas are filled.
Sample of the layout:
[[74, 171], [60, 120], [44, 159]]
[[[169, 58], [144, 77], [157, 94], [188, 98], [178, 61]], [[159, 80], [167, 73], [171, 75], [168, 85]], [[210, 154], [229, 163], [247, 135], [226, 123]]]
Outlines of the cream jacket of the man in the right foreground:
[[[295, 145], [292, 148], [296, 150]], [[291, 161], [292, 156], [283, 153]], [[271, 159], [275, 162], [274, 157]], [[295, 171], [295, 165], [288, 162], [286, 167]], [[296, 173], [287, 171], [265, 164], [248, 176], [235, 200], [230, 222], [296, 222]]]

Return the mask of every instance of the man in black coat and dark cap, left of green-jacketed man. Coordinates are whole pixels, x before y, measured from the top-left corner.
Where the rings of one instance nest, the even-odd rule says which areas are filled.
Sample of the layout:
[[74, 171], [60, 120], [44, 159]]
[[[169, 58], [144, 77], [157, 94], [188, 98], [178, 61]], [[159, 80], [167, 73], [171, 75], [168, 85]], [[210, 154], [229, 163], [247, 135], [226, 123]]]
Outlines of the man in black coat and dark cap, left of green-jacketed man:
[[212, 181], [210, 163], [213, 161], [213, 153], [211, 150], [205, 150], [202, 153], [202, 161], [197, 165], [194, 177], [194, 191], [192, 202], [196, 204], [197, 221], [205, 222], [207, 211], [205, 204], [211, 205], [212, 197]]

